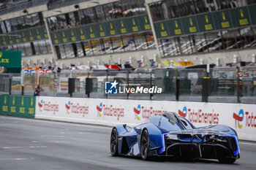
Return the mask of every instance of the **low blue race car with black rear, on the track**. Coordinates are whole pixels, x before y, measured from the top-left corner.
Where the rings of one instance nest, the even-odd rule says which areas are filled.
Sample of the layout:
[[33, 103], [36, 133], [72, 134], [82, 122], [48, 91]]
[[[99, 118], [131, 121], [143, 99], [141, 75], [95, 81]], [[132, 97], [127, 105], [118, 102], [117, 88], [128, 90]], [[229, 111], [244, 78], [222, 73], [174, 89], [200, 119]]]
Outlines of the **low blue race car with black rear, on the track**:
[[110, 137], [111, 155], [153, 156], [178, 159], [218, 159], [234, 163], [240, 158], [238, 136], [227, 125], [195, 128], [175, 112], [150, 117], [146, 123], [130, 128], [117, 125]]

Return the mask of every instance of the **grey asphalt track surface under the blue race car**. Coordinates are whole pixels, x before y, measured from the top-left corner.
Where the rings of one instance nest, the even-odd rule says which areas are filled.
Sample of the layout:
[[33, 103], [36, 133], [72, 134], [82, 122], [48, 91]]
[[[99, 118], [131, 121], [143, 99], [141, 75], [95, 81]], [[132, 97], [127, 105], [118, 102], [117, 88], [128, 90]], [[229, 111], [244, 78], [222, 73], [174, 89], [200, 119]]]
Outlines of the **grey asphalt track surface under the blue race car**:
[[143, 161], [110, 155], [110, 127], [0, 116], [0, 169], [256, 169], [256, 142], [240, 141], [241, 158]]

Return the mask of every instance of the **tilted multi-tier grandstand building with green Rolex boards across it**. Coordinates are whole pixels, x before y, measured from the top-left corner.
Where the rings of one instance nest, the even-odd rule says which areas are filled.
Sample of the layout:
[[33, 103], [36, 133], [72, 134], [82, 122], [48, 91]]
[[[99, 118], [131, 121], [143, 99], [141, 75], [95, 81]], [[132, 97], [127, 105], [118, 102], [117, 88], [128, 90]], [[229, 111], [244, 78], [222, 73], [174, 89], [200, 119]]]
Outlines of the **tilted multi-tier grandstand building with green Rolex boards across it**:
[[22, 51], [23, 67], [246, 66], [255, 9], [255, 0], [1, 0], [0, 50]]

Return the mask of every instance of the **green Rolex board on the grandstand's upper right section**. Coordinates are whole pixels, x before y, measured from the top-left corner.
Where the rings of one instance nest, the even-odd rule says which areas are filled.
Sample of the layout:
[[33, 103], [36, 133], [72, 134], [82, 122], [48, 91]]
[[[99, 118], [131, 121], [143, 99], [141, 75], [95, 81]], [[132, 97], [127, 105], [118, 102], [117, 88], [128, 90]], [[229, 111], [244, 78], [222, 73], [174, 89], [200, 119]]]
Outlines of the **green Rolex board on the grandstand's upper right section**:
[[[256, 5], [208, 12], [154, 23], [157, 38], [197, 34], [228, 28], [256, 25]], [[163, 29], [167, 28], [167, 29]]]

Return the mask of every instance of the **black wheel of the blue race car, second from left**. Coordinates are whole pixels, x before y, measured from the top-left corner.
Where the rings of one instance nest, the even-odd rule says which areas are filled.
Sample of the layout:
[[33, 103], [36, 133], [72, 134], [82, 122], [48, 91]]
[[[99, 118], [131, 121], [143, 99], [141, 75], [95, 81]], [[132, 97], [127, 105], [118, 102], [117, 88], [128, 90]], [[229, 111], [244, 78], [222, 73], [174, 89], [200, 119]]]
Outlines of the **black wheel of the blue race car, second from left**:
[[148, 137], [148, 131], [145, 130], [141, 135], [141, 141], [140, 141], [140, 154], [143, 160], [148, 160], [148, 151], [149, 151], [149, 137]]

